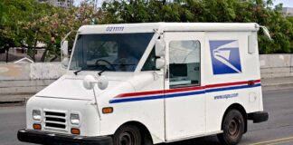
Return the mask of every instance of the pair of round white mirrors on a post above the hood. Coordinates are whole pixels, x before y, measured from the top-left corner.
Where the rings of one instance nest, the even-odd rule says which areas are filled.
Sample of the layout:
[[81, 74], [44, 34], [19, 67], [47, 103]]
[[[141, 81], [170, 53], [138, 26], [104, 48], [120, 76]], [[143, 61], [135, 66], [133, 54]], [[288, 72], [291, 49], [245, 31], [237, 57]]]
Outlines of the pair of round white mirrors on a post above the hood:
[[86, 75], [83, 79], [83, 87], [87, 90], [92, 90], [95, 83], [98, 83], [100, 90], [105, 90], [108, 87], [109, 81], [106, 76], [99, 76], [98, 81], [92, 75]]

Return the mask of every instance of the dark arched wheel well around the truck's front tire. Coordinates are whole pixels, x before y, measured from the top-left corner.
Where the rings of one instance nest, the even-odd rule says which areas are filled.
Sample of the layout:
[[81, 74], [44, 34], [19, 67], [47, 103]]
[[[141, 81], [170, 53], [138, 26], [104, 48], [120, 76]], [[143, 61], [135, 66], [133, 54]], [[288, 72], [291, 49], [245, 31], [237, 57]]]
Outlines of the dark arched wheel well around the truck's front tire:
[[142, 145], [152, 145], [153, 144], [153, 139], [150, 134], [150, 132], [147, 130], [147, 127], [142, 124], [141, 122], [138, 121], [128, 121], [124, 124], [122, 124], [119, 128], [121, 128], [124, 125], [135, 125], [139, 129], [141, 135], [142, 135]]

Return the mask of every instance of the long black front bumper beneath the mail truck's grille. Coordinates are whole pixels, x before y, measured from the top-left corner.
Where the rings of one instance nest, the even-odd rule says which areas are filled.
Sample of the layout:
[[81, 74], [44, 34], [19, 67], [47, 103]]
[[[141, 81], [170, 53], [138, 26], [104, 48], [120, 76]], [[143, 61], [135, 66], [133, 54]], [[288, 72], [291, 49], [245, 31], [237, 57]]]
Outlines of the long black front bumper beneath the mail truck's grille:
[[20, 130], [17, 132], [20, 141], [46, 145], [112, 145], [112, 138], [109, 136], [84, 137], [53, 133], [48, 131]]

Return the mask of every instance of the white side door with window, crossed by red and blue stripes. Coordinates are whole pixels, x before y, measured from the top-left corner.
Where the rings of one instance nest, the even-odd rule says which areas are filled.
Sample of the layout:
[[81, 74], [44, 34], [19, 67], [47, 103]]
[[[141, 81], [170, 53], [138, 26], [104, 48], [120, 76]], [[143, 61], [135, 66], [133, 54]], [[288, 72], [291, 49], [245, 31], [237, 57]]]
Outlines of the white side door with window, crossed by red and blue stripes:
[[205, 131], [202, 87], [204, 33], [165, 33], [165, 139], [201, 135]]

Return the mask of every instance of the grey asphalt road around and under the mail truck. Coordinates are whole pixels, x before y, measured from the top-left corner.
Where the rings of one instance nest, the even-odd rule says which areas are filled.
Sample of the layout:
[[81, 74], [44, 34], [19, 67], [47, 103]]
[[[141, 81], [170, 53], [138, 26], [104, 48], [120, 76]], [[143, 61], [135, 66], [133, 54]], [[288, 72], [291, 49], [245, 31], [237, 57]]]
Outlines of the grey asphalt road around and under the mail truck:
[[[253, 124], [244, 134], [241, 145], [293, 144], [293, 90], [264, 92], [264, 109], [269, 121]], [[16, 132], [25, 126], [24, 106], [0, 107], [0, 145], [28, 145], [16, 139]], [[204, 137], [166, 145], [220, 145], [216, 137]]]

